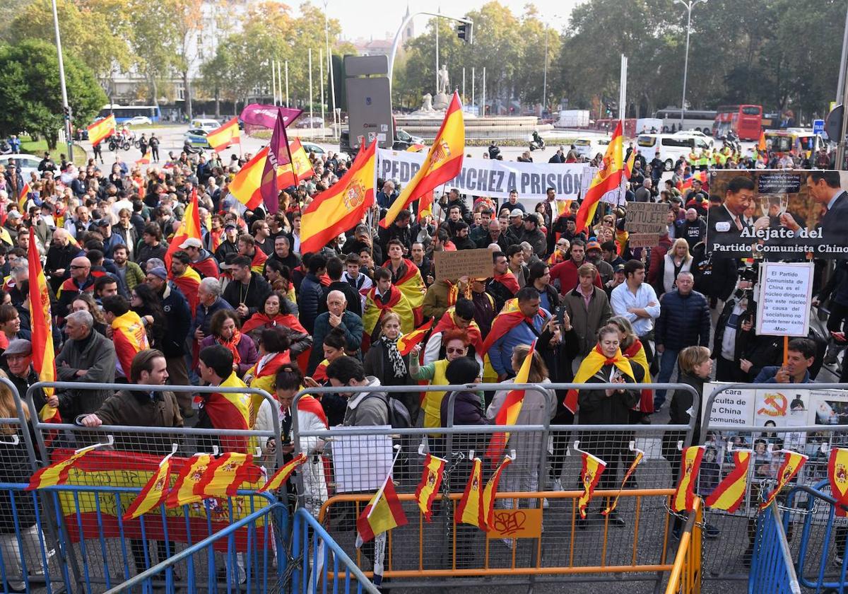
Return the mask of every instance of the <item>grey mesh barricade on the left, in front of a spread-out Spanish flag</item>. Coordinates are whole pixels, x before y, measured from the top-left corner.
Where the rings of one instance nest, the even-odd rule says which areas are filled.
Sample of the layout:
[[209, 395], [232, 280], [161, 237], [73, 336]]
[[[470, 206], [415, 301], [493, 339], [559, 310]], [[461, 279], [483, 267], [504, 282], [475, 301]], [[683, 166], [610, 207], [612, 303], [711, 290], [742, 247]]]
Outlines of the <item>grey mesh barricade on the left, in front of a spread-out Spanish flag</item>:
[[[88, 428], [70, 423], [46, 423], [38, 417], [33, 394], [36, 389], [53, 387], [74, 390], [133, 389], [137, 391], [218, 392], [259, 395], [252, 403], [271, 405], [272, 427], [267, 430], [193, 429], [186, 427], [138, 427], [101, 425]], [[104, 584], [106, 587], [149, 568], [182, 547], [222, 530], [233, 522], [268, 506], [268, 496], [251, 495], [259, 484], [245, 483], [242, 495], [232, 499], [207, 499], [123, 522], [121, 515], [131, 505], [135, 494], [147, 483], [159, 462], [175, 451], [171, 476], [191, 462], [198, 451], [248, 451], [257, 454], [257, 462], [266, 467], [270, 476], [282, 464], [282, 451], [265, 455], [255, 449], [269, 438], [280, 435], [279, 406], [264, 390], [221, 388], [210, 386], [171, 386], [137, 384], [76, 384], [72, 382], [40, 382], [31, 385], [26, 395], [30, 424], [36, 435], [38, 465], [47, 466], [64, 459], [76, 448], [94, 443], [110, 444], [98, 447], [82, 457], [71, 469], [67, 487], [53, 493], [53, 501], [42, 509], [53, 507], [49, 518], [57, 523], [69, 546], [60, 547], [64, 560], [77, 584]], [[20, 414], [24, 412], [21, 409]], [[25, 432], [28, 433], [28, 432]], [[127, 543], [126, 540], [130, 542]], [[148, 541], [157, 541], [153, 550]], [[98, 568], [98, 569], [92, 569]], [[115, 569], [109, 574], [109, 568]], [[91, 590], [91, 588], [89, 588]]]

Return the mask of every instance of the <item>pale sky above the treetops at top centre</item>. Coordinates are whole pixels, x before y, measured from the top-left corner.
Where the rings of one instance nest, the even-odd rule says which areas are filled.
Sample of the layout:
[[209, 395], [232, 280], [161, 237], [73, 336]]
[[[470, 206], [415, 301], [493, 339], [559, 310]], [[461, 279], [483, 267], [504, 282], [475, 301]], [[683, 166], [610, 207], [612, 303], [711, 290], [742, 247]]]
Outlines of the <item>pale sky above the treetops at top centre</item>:
[[[561, 29], [566, 25], [568, 15], [572, 8], [582, 0], [533, 0], [538, 8], [539, 14], [547, 18], [550, 25]], [[323, 0], [312, 0], [312, 3], [323, 8]], [[441, 6], [443, 14], [451, 16], [464, 16], [466, 12], [480, 8], [485, 0], [435, 0], [425, 2], [424, 0], [410, 0], [410, 12], [419, 10], [431, 10], [437, 12]], [[510, 8], [512, 14], [524, 13], [524, 6], [528, 0], [500, 0], [500, 3]], [[296, 3], [291, 5], [297, 6]], [[328, 0], [327, 9], [332, 17], [342, 23], [342, 36], [344, 39], [356, 39], [358, 37], [375, 39], [393, 38], [398, 30], [401, 20], [406, 13], [407, 3], [405, 0]], [[421, 34], [430, 17], [421, 15], [416, 17], [416, 35]]]

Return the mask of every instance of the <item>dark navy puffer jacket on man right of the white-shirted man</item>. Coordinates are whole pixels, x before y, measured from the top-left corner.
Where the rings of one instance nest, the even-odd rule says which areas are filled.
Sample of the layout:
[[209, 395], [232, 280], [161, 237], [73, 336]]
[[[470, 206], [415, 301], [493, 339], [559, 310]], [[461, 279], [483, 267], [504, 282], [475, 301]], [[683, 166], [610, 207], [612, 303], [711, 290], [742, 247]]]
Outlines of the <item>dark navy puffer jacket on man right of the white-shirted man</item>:
[[660, 298], [660, 317], [656, 320], [657, 345], [668, 350], [710, 344], [710, 308], [706, 297], [697, 291], [688, 295], [677, 289]]

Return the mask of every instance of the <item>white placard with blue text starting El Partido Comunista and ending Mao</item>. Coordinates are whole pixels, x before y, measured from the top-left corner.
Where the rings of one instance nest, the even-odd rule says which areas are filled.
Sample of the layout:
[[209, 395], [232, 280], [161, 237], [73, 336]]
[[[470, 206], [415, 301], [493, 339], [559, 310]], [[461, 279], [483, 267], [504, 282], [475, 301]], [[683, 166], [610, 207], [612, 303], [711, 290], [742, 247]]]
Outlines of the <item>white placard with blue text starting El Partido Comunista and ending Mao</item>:
[[812, 262], [760, 265], [757, 334], [806, 337], [810, 329], [812, 266]]

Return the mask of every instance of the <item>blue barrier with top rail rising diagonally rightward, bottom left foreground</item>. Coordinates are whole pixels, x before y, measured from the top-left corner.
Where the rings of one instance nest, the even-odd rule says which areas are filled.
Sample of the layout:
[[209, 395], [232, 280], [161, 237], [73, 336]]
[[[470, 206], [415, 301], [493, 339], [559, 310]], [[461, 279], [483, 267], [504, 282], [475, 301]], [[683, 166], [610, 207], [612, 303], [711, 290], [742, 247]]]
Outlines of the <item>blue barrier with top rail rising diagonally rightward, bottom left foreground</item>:
[[[291, 571], [284, 541], [287, 507], [274, 502], [203, 540], [189, 544], [139, 574], [112, 586], [107, 594], [141, 591], [287, 591]], [[239, 533], [244, 533], [239, 536]], [[240, 544], [241, 543], [241, 544]], [[184, 567], [183, 567], [184, 566]], [[133, 590], [136, 588], [136, 590]]]

